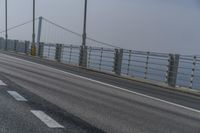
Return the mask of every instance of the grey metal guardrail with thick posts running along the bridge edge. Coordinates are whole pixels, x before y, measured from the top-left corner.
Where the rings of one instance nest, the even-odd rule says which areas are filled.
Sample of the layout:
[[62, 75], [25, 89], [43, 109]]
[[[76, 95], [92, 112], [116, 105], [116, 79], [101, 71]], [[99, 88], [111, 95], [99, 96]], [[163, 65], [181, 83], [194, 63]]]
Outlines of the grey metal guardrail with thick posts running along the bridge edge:
[[[5, 49], [3, 38], [0, 49]], [[7, 50], [29, 54], [30, 43], [9, 40]], [[200, 56], [43, 43], [38, 45], [37, 54], [98, 71], [200, 89]]]

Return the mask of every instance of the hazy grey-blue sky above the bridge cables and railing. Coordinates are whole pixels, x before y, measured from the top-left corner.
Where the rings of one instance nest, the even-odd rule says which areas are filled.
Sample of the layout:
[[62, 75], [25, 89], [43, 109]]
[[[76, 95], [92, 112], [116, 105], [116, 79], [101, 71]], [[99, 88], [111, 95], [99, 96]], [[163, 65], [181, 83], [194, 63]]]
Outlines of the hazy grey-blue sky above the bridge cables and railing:
[[[36, 2], [37, 16], [82, 33], [84, 0]], [[9, 26], [32, 18], [32, 0], [8, 0], [8, 4]], [[0, 30], [4, 21], [4, 0], [0, 0]], [[19, 33], [21, 40], [31, 37], [31, 27]], [[126, 49], [199, 54], [200, 1], [88, 0], [87, 33]]]

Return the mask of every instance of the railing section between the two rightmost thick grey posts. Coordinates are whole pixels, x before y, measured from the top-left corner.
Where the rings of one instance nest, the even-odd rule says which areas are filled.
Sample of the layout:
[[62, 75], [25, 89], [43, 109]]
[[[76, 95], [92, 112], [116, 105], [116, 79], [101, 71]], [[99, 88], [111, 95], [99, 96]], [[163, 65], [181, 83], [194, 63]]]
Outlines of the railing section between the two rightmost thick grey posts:
[[123, 50], [122, 74], [167, 82], [170, 55]]

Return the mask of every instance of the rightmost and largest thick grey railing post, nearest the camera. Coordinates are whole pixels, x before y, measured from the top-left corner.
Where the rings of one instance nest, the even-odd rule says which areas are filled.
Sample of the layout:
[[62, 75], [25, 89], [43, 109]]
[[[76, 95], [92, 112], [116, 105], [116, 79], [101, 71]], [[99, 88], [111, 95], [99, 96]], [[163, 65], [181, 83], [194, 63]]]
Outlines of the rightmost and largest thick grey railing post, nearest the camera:
[[170, 54], [169, 56], [170, 56], [170, 60], [169, 60], [169, 65], [168, 65], [167, 83], [169, 86], [175, 87], [177, 75], [178, 75], [178, 66], [179, 66], [180, 55]]

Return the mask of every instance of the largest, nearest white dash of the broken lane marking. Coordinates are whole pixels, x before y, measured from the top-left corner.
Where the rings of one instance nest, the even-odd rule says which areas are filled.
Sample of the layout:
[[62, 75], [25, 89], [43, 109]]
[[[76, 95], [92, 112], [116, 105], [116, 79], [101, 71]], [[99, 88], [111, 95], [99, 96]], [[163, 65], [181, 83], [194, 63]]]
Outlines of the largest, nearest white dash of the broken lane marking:
[[45, 114], [43, 111], [31, 110], [31, 112], [42, 122], [44, 122], [49, 128], [64, 128], [58, 122], [53, 120], [50, 116]]

